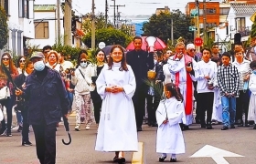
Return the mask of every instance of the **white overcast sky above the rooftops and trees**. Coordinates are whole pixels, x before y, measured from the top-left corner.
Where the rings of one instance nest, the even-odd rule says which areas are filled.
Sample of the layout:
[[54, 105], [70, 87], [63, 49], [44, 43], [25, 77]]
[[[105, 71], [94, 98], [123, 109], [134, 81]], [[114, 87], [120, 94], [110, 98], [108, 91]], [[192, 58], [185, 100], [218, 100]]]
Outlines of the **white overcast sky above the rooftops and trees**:
[[[61, 0], [60, 0], [61, 1]], [[119, 7], [121, 15], [152, 15], [155, 14], [156, 8], [164, 8], [167, 5], [171, 10], [180, 9], [185, 12], [185, 6], [187, 2], [194, 0], [115, 0], [116, 5], [125, 5], [125, 7]], [[74, 10], [84, 15], [91, 13], [92, 0], [72, 0]], [[105, 13], [105, 0], [94, 0], [95, 13]], [[56, 4], [56, 0], [36, 0], [37, 5], [49, 5]], [[113, 1], [108, 0], [109, 15], [113, 15]]]

